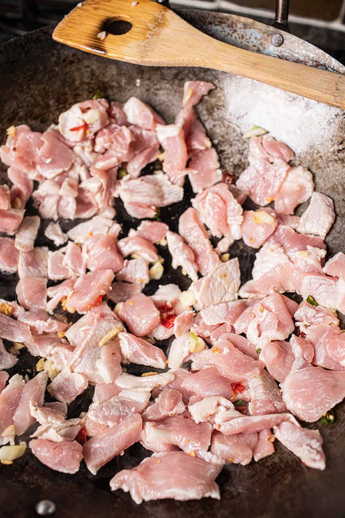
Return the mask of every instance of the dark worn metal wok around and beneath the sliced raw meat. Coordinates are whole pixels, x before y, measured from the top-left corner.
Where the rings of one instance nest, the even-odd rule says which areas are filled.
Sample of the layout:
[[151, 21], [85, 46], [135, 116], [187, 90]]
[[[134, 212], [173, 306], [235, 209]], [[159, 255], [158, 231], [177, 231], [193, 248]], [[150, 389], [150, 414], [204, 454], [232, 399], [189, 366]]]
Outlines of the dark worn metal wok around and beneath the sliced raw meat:
[[[330, 56], [277, 28], [223, 13], [193, 9], [178, 13], [205, 33], [233, 45], [344, 73], [344, 67]], [[197, 111], [217, 147], [223, 170], [241, 172], [246, 166], [248, 147], [242, 138], [243, 132], [254, 124], [266, 128], [295, 151], [296, 164], [303, 164], [313, 172], [317, 190], [334, 199], [337, 219], [327, 236], [327, 249], [329, 256], [344, 249], [345, 120], [341, 110], [213, 70], [140, 67], [104, 60], [57, 44], [51, 38], [52, 30], [53, 27], [43, 28], [0, 47], [0, 135], [3, 140], [6, 128], [12, 124], [26, 123], [34, 130], [43, 131], [51, 122], [57, 121], [60, 112], [98, 90], [106, 93], [109, 99], [121, 102], [137, 95], [153, 105], [167, 122], [172, 122], [181, 106], [183, 83], [197, 79], [212, 81], [217, 89], [203, 99]], [[280, 47], [271, 43], [271, 37], [277, 32], [284, 40]], [[139, 82], [140, 87], [137, 86]], [[3, 183], [6, 181], [4, 166], [0, 166], [0, 171]], [[161, 211], [161, 220], [169, 222], [173, 230], [177, 228], [178, 213], [189, 205], [192, 195], [189, 186], [185, 191], [181, 204]], [[116, 203], [117, 219], [123, 223], [126, 233], [139, 221], [129, 218], [121, 203]], [[33, 211], [34, 208], [28, 208], [29, 213]], [[71, 226], [67, 222], [63, 225], [65, 229]], [[44, 228], [44, 223], [42, 226]], [[42, 229], [37, 244], [48, 244]], [[160, 253], [166, 259], [162, 281], [180, 282], [185, 288], [188, 282], [171, 269], [169, 254], [164, 249], [160, 249]], [[230, 250], [231, 256], [240, 257], [243, 282], [250, 275], [254, 253], [242, 241]], [[16, 276], [2, 276], [0, 296], [13, 299], [16, 282]], [[155, 291], [158, 283], [150, 286], [150, 292]], [[19, 365], [11, 373], [25, 374], [27, 369], [32, 377], [37, 359], [22, 350]], [[92, 390], [90, 387], [70, 405], [69, 416], [79, 415], [87, 408]], [[27, 450], [13, 465], [0, 465], [1, 515], [11, 518], [36, 516], [36, 503], [50, 498], [56, 503], [58, 518], [84, 515], [87, 518], [129, 518], [139, 513], [145, 518], [175, 518], [176, 515], [181, 518], [297, 518], [308, 515], [341, 518], [345, 515], [345, 405], [338, 405], [335, 413], [333, 426], [320, 422], [309, 425], [320, 428], [324, 438], [327, 458], [324, 472], [303, 466], [276, 441], [275, 455], [246, 467], [227, 465], [222, 470], [217, 479], [220, 501], [209, 498], [189, 502], [161, 500], [144, 502], [138, 507], [128, 493], [111, 493], [110, 477], [119, 469], [137, 465], [147, 455], [140, 445], [134, 445], [124, 456], [115, 458], [96, 477], [83, 464], [74, 475], [52, 471]]]

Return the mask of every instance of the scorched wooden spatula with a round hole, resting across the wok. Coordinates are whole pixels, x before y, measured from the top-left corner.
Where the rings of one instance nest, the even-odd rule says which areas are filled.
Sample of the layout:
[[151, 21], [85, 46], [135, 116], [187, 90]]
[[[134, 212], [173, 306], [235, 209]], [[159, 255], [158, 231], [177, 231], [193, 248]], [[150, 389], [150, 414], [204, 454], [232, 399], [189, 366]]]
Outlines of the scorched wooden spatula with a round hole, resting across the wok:
[[[115, 20], [126, 34], [107, 33]], [[86, 0], [55, 28], [56, 41], [119, 61], [230, 72], [345, 109], [345, 76], [278, 60], [218, 41], [152, 0]]]

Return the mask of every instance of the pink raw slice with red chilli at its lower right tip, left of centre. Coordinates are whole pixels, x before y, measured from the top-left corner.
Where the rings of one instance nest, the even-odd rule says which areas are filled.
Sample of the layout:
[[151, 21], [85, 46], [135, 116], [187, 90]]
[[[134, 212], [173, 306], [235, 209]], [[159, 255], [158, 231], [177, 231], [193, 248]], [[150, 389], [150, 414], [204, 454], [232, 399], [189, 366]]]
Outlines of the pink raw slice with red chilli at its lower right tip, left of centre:
[[86, 313], [97, 306], [102, 296], [108, 293], [114, 272], [112, 270], [89, 271], [78, 278], [72, 294], [66, 300], [66, 309], [70, 313]]

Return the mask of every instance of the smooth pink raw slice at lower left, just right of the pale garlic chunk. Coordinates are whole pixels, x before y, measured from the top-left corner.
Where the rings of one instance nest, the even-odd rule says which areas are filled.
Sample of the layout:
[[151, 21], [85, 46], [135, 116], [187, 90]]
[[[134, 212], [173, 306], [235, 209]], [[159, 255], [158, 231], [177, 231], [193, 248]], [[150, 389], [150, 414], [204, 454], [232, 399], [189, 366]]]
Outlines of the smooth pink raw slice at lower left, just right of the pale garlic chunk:
[[52, 442], [33, 439], [29, 448], [38, 460], [50, 469], [61, 473], [77, 473], [83, 458], [83, 448], [77, 441]]

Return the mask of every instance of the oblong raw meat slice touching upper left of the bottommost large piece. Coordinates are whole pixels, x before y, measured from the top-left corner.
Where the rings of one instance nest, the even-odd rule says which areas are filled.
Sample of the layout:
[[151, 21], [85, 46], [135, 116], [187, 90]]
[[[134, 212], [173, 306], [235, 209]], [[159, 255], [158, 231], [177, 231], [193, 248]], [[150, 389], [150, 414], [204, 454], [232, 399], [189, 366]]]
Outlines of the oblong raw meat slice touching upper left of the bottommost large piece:
[[140, 440], [141, 426], [140, 415], [134, 414], [85, 442], [83, 455], [87, 469], [95, 475], [115, 455], [122, 455], [134, 442]]

